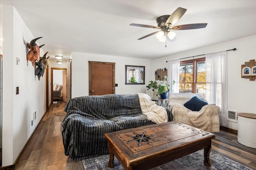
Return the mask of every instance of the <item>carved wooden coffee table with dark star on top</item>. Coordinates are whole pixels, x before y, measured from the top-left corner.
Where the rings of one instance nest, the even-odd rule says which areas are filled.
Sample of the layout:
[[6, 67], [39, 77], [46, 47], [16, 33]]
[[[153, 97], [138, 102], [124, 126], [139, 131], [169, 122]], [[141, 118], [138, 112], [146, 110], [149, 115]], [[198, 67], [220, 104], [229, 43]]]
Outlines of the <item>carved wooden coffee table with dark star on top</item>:
[[176, 121], [106, 133], [110, 158], [125, 170], [150, 169], [204, 149], [204, 165], [211, 166], [211, 139], [215, 135]]

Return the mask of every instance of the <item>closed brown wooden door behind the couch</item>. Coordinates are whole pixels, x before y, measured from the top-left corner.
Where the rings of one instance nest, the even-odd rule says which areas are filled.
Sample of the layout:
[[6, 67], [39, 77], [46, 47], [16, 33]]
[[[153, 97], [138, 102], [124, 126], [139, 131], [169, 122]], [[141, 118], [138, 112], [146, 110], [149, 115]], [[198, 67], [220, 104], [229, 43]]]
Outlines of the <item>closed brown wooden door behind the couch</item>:
[[115, 63], [89, 61], [89, 95], [115, 94]]

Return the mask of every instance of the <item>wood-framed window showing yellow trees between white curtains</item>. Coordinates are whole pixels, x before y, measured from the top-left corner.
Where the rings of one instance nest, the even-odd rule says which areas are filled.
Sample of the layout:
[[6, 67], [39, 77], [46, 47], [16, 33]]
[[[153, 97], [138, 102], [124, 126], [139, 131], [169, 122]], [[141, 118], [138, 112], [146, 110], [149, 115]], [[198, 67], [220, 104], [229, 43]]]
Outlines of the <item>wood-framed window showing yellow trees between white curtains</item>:
[[200, 93], [206, 89], [205, 58], [180, 62], [180, 93]]

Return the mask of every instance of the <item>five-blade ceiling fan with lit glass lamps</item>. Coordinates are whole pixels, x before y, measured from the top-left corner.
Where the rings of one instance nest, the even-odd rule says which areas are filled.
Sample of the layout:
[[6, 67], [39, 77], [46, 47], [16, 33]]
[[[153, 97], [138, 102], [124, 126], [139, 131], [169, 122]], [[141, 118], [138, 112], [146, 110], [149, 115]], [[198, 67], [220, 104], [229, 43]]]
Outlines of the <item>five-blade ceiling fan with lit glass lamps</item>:
[[145, 35], [144, 37], [141, 37], [138, 39], [138, 40], [144, 39], [146, 37], [156, 34], [156, 37], [161, 42], [165, 42], [166, 38], [169, 41], [176, 40], [176, 39], [174, 39], [176, 36], [176, 33], [174, 33], [171, 30], [198, 29], [198, 28], [206, 27], [207, 23], [192, 23], [192, 24], [173, 26], [178, 20], [180, 20], [180, 18], [185, 14], [185, 12], [186, 12], [186, 9], [179, 7], [171, 15], [160, 16], [156, 19], [157, 26], [143, 25], [143, 24], [137, 24], [137, 23], [131, 23], [130, 25], [137, 26], [137, 27], [161, 29], [160, 31], [150, 33], [150, 34]]

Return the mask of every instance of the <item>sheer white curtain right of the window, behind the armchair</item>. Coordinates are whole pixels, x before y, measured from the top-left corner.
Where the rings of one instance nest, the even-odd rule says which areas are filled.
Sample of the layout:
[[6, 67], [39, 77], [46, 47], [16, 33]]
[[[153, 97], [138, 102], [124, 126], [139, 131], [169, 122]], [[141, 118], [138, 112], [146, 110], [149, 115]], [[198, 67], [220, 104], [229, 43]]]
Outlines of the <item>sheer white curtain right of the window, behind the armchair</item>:
[[227, 125], [227, 52], [206, 55], [206, 100], [220, 107], [220, 125]]

